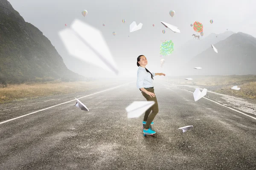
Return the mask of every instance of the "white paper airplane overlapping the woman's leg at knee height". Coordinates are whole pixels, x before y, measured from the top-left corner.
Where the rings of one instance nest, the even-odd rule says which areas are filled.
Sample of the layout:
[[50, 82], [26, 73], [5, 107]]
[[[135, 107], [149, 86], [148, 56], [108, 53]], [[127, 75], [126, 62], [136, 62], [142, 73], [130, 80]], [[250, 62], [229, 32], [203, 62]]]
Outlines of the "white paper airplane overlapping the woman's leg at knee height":
[[136, 118], [140, 117], [145, 111], [147, 111], [152, 105], [154, 105], [154, 101], [138, 101], [133, 102], [131, 105], [129, 105], [125, 110], [128, 112], [127, 117], [128, 118]]

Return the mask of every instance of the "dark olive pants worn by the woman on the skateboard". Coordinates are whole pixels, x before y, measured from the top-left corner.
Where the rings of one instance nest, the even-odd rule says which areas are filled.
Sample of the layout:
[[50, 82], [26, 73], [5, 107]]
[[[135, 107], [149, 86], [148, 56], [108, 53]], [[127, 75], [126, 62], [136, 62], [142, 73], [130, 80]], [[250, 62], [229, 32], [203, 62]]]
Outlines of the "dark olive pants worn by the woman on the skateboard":
[[[150, 91], [151, 93], [154, 93], [154, 88], [148, 88], [147, 91]], [[145, 116], [143, 121], [147, 122], [145, 125], [145, 129], [148, 129], [151, 122], [153, 122], [154, 117], [158, 113], [158, 103], [157, 103], [157, 96], [151, 97], [148, 94], [145, 94], [145, 92], [141, 91], [142, 95], [147, 99], [147, 101], [154, 101], [155, 104], [151, 106], [147, 111], [145, 111]], [[149, 113], [152, 111], [152, 113], [149, 115]]]

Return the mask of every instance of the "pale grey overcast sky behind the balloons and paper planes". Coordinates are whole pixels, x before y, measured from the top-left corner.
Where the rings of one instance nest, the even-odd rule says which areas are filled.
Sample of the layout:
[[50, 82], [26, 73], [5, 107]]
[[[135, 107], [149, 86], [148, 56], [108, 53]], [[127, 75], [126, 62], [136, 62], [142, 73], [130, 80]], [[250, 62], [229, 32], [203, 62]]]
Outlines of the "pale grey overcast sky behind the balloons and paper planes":
[[[204, 25], [204, 37], [220, 34], [228, 29], [256, 37], [255, 0], [9, 0], [24, 20], [39, 28], [52, 42], [70, 70], [86, 77], [116, 77], [112, 72], [81, 62], [67, 53], [58, 32], [79, 19], [102, 31], [118, 68], [118, 77], [136, 77], [136, 59], [140, 54], [148, 58], [146, 68], [151, 72], [165, 73], [160, 68], [160, 40], [172, 40], [175, 49], [192, 39], [195, 31], [191, 23]], [[87, 16], [81, 11], [87, 10]], [[172, 18], [169, 11], [174, 10]], [[122, 19], [126, 23], [122, 23]], [[213, 20], [211, 24], [209, 20]], [[135, 21], [142, 29], [129, 32]], [[173, 33], [160, 22], [180, 29]], [[105, 27], [102, 26], [105, 23]], [[153, 27], [152, 24], [155, 26]], [[162, 30], [166, 33], [163, 34]], [[85, 30], [86, 31], [86, 30]], [[112, 32], [116, 31], [116, 36]], [[128, 37], [130, 35], [130, 37]], [[203, 37], [203, 38], [204, 38]], [[172, 54], [166, 57], [175, 57]], [[167, 64], [167, 63], [166, 63]], [[166, 73], [167, 74], [167, 73]], [[171, 73], [168, 73], [171, 74]], [[171, 75], [169, 75], [171, 76]]]

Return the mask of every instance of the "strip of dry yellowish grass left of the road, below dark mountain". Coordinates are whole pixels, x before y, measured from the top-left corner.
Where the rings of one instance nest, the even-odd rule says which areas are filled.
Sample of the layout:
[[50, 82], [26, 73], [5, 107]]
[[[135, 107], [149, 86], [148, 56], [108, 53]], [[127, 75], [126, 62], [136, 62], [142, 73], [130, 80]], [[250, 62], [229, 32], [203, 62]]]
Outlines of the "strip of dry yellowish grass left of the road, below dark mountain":
[[104, 87], [105, 84], [99, 82], [44, 82], [29, 83], [20, 85], [7, 85], [0, 88], [0, 103], [24, 98], [38, 96], [49, 96], [55, 94], [68, 94], [74, 92], [83, 92], [90, 89]]

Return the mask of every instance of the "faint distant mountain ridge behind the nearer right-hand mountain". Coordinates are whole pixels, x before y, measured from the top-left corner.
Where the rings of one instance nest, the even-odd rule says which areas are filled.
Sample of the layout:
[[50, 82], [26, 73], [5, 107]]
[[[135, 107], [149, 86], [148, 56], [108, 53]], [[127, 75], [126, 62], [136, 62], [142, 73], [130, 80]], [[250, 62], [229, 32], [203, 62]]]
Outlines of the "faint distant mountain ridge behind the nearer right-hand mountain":
[[172, 57], [166, 57], [166, 63], [169, 63], [168, 65], [171, 71], [170, 73], [173, 76], [178, 75], [179, 71], [177, 70], [180, 70], [180, 68], [182, 68], [186, 62], [205, 51], [210, 47], [211, 44], [225, 40], [232, 34], [234, 34], [232, 31], [225, 31], [221, 34], [212, 33], [204, 38], [200, 36], [200, 40], [197, 40], [197, 38], [195, 40], [193, 39], [193, 36], [191, 36], [192, 40], [189, 40], [185, 44], [181, 45], [179, 48], [177, 48], [177, 50], [175, 49], [173, 54], [171, 54]]

